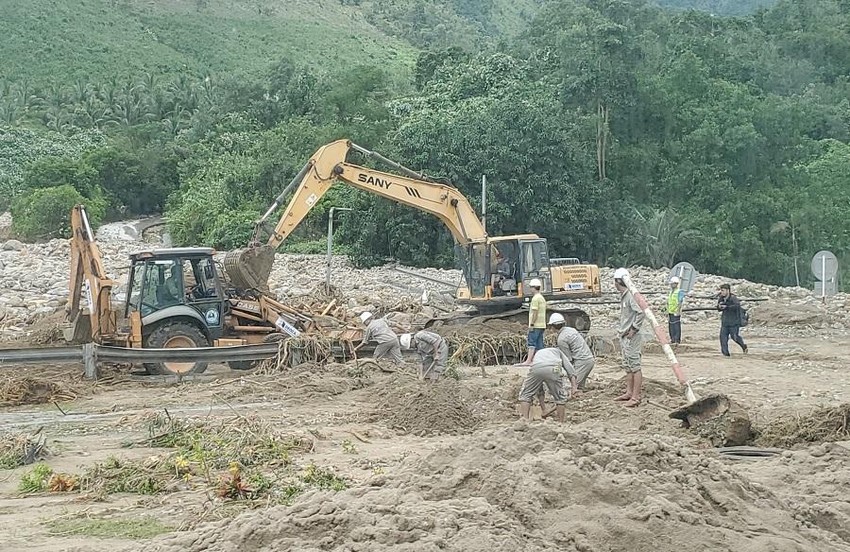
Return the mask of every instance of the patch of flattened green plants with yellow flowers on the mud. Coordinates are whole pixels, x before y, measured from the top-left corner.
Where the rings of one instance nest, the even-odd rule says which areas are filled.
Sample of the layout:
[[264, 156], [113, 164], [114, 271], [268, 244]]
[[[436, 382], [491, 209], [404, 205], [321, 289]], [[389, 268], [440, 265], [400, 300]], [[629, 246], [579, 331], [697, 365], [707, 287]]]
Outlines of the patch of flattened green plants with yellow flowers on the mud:
[[105, 498], [200, 489], [251, 505], [260, 499], [262, 504], [286, 504], [308, 488], [341, 490], [348, 485], [333, 470], [312, 463], [299, 469], [293, 456], [312, 443], [256, 418], [185, 420], [163, 412], [147, 421], [147, 430], [146, 439], [127, 446], [169, 452], [142, 460], [110, 456], [79, 474], [57, 473], [39, 463], [23, 475], [19, 490]]

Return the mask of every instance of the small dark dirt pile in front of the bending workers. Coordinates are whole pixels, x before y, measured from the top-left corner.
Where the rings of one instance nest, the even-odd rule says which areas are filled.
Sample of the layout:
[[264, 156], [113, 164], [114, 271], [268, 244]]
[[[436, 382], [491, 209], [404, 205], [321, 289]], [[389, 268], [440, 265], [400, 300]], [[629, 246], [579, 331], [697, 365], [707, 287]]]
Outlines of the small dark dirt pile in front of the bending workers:
[[420, 382], [400, 374], [376, 387], [375, 394], [383, 402], [372, 418], [393, 429], [414, 435], [458, 434], [480, 422], [454, 380]]

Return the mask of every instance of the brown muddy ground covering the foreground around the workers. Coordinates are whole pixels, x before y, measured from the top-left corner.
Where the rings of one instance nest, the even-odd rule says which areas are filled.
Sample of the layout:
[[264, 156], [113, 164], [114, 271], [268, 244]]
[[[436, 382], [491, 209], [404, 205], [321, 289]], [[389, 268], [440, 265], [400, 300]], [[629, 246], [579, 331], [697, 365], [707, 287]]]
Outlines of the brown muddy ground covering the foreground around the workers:
[[[698, 395], [734, 398], [756, 429], [850, 402], [843, 332], [789, 338], [748, 328], [750, 353], [733, 346], [726, 359], [716, 324], [686, 328], [682, 363]], [[646, 351], [643, 405], [612, 401], [621, 372], [615, 357], [600, 358], [563, 425], [516, 420], [522, 370], [507, 366], [459, 367], [458, 381], [430, 387], [412, 375], [413, 362], [394, 372], [364, 363], [268, 376], [213, 367], [208, 381], [179, 386], [121, 369], [91, 384], [77, 368], [6, 367], [7, 381], [38, 392], [13, 396], [36, 404], [7, 403], [0, 427], [37, 432], [54, 473], [83, 474], [113, 456], [179, 464], [173, 448], [150, 441], [152, 420], [167, 416], [286, 434], [286, 473], [300, 486], [287, 499], [222, 497], [215, 481], [235, 469], [223, 464], [205, 477], [189, 466], [185, 481], [146, 495], [22, 492], [33, 465], [2, 469], [0, 549], [850, 551], [846, 443], [721, 456], [668, 417], [683, 399], [660, 348]], [[256, 469], [279, 467], [269, 466]]]

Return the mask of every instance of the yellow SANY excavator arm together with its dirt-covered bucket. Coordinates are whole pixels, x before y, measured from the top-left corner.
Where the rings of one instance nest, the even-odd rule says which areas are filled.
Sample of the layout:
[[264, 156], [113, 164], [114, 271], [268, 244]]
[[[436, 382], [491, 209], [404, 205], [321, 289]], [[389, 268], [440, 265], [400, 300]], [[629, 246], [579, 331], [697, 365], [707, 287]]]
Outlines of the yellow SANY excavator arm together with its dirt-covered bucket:
[[[405, 176], [348, 163], [346, 157], [351, 150], [388, 164]], [[257, 234], [259, 234], [266, 220], [280, 208], [289, 192], [297, 187], [266, 245], [260, 247], [259, 240], [255, 236], [253, 247], [234, 251], [225, 258], [225, 268], [233, 283], [238, 287], [267, 290], [275, 248], [295, 230], [337, 181], [431, 213], [446, 225], [458, 243], [483, 241], [487, 238], [487, 232], [475, 214], [475, 210], [456, 188], [434, 182], [349, 140], [337, 140], [322, 146], [310, 158], [257, 221]]]

